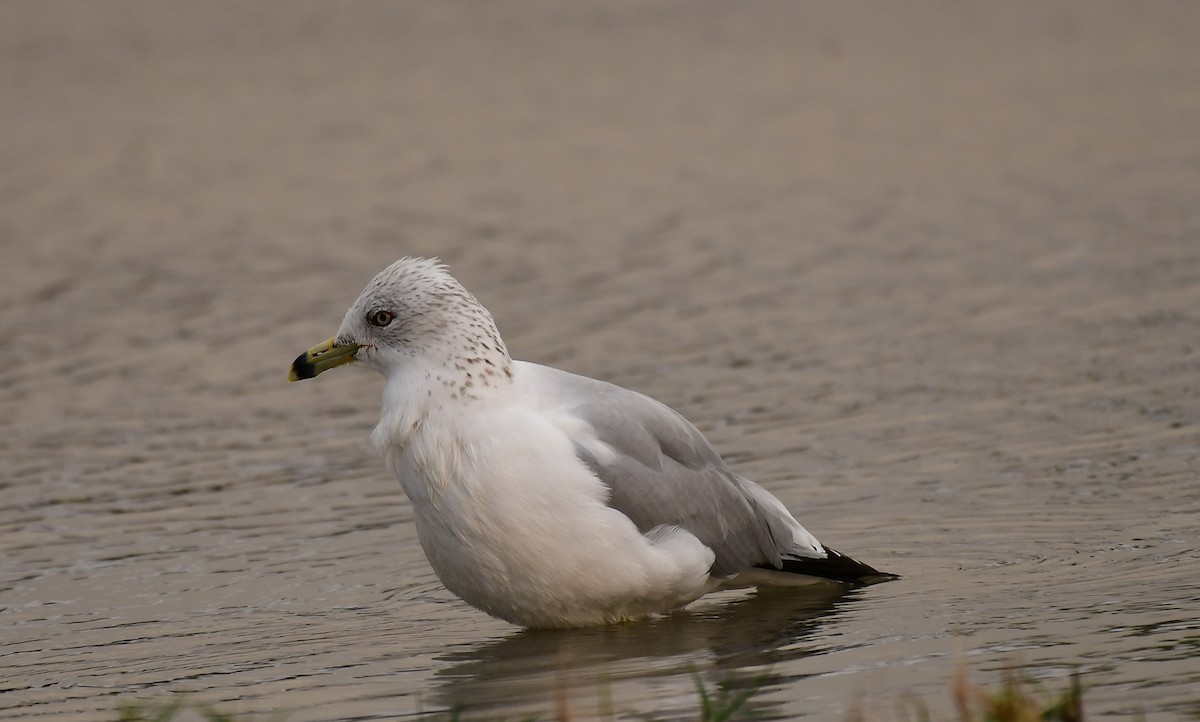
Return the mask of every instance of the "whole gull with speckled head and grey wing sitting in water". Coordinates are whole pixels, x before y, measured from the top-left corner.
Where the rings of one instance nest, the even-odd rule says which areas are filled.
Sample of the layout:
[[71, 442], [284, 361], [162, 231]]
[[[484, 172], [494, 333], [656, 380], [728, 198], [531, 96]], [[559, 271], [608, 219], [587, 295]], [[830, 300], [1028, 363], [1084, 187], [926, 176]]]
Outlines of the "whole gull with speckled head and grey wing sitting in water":
[[402, 258], [289, 380], [385, 378], [372, 441], [446, 589], [524, 627], [655, 616], [746, 586], [895, 578], [822, 544], [647, 396], [509, 356], [438, 259]]

